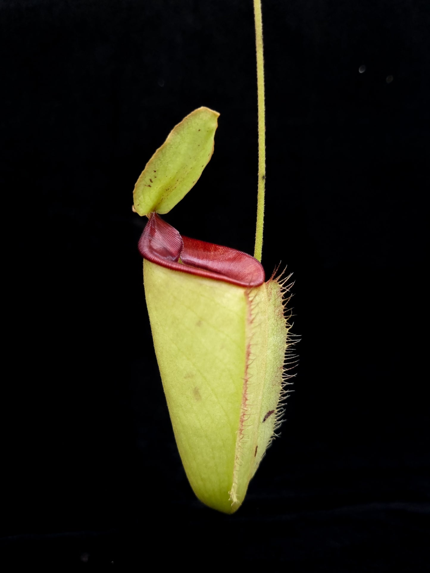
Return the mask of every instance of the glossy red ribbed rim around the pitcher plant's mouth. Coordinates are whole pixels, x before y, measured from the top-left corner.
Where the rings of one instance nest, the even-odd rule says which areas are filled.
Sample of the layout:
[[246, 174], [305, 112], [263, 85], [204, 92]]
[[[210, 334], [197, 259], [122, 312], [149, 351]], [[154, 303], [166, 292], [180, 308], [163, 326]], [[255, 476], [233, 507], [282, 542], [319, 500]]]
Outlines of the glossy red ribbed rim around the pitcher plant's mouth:
[[181, 237], [156, 213], [151, 214], [143, 229], [139, 252], [148, 261], [182, 273], [248, 287], [264, 282], [264, 269], [256, 258], [229, 247]]

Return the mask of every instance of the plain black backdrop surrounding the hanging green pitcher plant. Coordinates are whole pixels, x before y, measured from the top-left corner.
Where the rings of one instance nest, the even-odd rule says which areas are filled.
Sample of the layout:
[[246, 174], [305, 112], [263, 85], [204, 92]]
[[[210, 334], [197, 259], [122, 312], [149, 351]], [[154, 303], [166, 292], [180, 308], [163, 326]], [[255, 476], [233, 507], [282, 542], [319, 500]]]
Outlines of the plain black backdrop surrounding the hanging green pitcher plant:
[[173, 125], [216, 109], [166, 219], [252, 253], [252, 2], [0, 2], [3, 563], [425, 570], [428, 5], [264, 0], [263, 18], [263, 264], [294, 273], [302, 341], [282, 437], [228, 517], [175, 448], [131, 204]]

